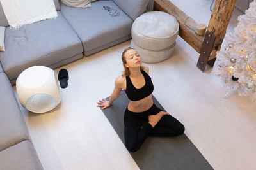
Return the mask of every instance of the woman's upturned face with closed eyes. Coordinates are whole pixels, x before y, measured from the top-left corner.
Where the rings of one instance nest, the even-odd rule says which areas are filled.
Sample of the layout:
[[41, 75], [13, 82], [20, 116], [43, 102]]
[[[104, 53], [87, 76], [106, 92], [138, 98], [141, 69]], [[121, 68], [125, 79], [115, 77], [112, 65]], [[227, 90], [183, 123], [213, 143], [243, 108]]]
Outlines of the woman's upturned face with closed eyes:
[[130, 49], [125, 53], [124, 56], [126, 60], [125, 67], [136, 68], [141, 66], [141, 57], [136, 50]]

